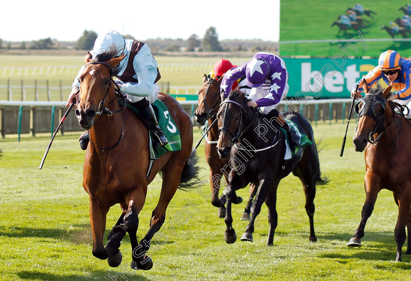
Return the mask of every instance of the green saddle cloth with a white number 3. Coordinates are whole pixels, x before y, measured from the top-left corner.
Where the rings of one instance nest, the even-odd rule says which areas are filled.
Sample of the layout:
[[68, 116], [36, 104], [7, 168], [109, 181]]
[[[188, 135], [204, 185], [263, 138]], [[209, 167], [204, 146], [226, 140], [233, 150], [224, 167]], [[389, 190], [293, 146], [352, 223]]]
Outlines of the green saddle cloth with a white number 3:
[[[154, 151], [153, 146], [152, 146], [153, 136], [151, 135], [151, 132], [149, 130], [151, 159], [157, 159], [167, 151], [180, 151], [181, 150], [180, 132], [176, 126], [176, 123], [173, 120], [173, 117], [171, 117], [170, 113], [168, 112], [167, 107], [160, 100], [156, 100], [151, 105], [154, 109], [154, 113], [156, 114], [157, 121], [159, 122], [159, 126], [161, 130], [163, 130], [165, 137], [168, 140], [168, 144], [165, 147], [163, 148], [161, 147], [158, 150]], [[134, 108], [131, 104], [127, 103], [127, 107], [132, 109], [134, 112], [137, 113], [138, 116], [140, 116], [138, 110]]]

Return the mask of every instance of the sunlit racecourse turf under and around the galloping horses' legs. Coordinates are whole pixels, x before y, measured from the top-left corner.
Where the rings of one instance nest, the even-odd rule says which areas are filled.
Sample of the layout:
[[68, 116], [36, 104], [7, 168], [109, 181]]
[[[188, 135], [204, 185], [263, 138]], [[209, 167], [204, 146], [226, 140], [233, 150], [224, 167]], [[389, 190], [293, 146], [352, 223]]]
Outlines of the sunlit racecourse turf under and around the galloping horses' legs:
[[[278, 227], [274, 245], [266, 246], [267, 208], [257, 217], [253, 242], [239, 240], [247, 225], [239, 218], [244, 210], [248, 188], [239, 191], [245, 200], [233, 206], [233, 227], [238, 240], [224, 242], [225, 223], [217, 217], [210, 199], [197, 190], [177, 191], [167, 209], [161, 228], [162, 245], [153, 244], [150, 271], [132, 271], [130, 240], [123, 239], [120, 250], [123, 263], [110, 268], [106, 260], [91, 255], [91, 230], [88, 195], [82, 188], [84, 151], [78, 134], [58, 135], [48, 153], [45, 165], [38, 170], [50, 135], [37, 137], [7, 135], [0, 139], [0, 280], [1, 281], [111, 281], [116, 280], [258, 280], [258, 281], [358, 281], [410, 280], [411, 257], [395, 262], [393, 230], [398, 209], [392, 193], [383, 190], [369, 218], [363, 247], [346, 246], [361, 218], [365, 199], [364, 156], [355, 152], [350, 138], [355, 127], [351, 120], [344, 156], [340, 149], [345, 124], [319, 123], [314, 128], [316, 141], [321, 138], [321, 171], [331, 182], [317, 187], [315, 227], [317, 243], [308, 241], [308, 217], [304, 193], [299, 180], [289, 175], [278, 188]], [[200, 138], [195, 130], [194, 142]], [[198, 149], [201, 175], [208, 180], [204, 145]], [[137, 167], [136, 167], [137, 168]], [[161, 179], [149, 186], [146, 204], [140, 213], [138, 238], [148, 229]], [[202, 188], [206, 193], [209, 185]], [[189, 208], [183, 225], [171, 225], [170, 218]], [[107, 234], [120, 209], [114, 206], [107, 218]], [[173, 222], [173, 220], [171, 220]], [[173, 229], [174, 227], [174, 229]], [[168, 229], [169, 231], [167, 231]], [[405, 245], [406, 246], [406, 245]], [[403, 249], [405, 252], [405, 247]], [[123, 274], [127, 279], [122, 278]], [[134, 276], [131, 276], [133, 275]]]

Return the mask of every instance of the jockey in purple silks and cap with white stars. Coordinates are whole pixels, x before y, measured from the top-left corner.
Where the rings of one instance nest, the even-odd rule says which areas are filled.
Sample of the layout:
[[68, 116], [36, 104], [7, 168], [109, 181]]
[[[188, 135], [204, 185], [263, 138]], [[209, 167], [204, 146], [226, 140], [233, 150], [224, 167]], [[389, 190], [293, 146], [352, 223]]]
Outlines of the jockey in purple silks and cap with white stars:
[[251, 87], [250, 101], [247, 105], [251, 108], [259, 108], [270, 122], [274, 119], [285, 129], [290, 141], [290, 149], [295, 151], [299, 144], [299, 136], [288, 126], [284, 116], [275, 109], [288, 93], [288, 72], [284, 61], [274, 54], [256, 53], [249, 62], [226, 72], [220, 91], [224, 92], [227, 98], [234, 81], [244, 77], [246, 84]]

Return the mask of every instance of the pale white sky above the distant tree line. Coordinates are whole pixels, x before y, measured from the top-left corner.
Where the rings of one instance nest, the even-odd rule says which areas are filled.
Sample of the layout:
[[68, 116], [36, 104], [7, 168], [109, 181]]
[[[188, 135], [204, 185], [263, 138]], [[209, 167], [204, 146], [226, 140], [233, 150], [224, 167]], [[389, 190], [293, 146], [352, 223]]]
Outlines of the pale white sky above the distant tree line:
[[[279, 40], [280, 0], [7, 0], [1, 5], [3, 41], [77, 41], [84, 30], [110, 30], [144, 41], [203, 38]], [[117, 4], [114, 4], [117, 3]]]

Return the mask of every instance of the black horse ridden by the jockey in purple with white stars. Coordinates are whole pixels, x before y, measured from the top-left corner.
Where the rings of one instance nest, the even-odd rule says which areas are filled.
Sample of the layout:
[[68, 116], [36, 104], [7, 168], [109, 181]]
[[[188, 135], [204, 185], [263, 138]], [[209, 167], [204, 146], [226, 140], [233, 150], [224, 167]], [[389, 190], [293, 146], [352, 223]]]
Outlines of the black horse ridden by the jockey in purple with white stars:
[[244, 188], [251, 182], [258, 185], [258, 189], [251, 205], [250, 223], [241, 240], [253, 240], [254, 220], [265, 202], [270, 223], [267, 245], [273, 244], [277, 226], [276, 191], [280, 180], [291, 172], [299, 177], [304, 189], [305, 209], [310, 222], [309, 239], [317, 241], [314, 231], [316, 184], [325, 184], [327, 179], [321, 177], [314, 133], [308, 120], [295, 112], [284, 115], [295, 122], [300, 132], [306, 134], [313, 143], [299, 149], [289, 160], [284, 160], [286, 144], [275, 120], [268, 120], [259, 111], [248, 107], [243, 92], [232, 91], [220, 106], [217, 114], [220, 130], [217, 148], [220, 157], [229, 156], [230, 161], [234, 161], [232, 167], [235, 167], [231, 169], [226, 187], [227, 229], [224, 239], [227, 243], [234, 243], [237, 238], [232, 228], [231, 216], [234, 191]]

